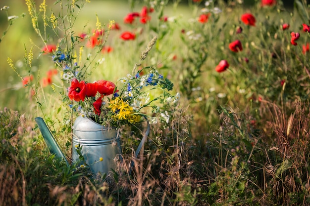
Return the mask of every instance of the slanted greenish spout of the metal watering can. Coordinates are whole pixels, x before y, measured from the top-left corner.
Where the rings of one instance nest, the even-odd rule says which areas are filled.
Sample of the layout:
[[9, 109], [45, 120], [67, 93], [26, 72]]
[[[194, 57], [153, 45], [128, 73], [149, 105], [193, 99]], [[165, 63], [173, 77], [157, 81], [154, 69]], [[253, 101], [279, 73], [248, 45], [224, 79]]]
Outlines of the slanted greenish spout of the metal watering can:
[[42, 136], [44, 138], [45, 143], [47, 144], [48, 148], [50, 149], [50, 152], [57, 156], [58, 158], [61, 158], [65, 161], [65, 163], [69, 166], [69, 163], [63, 153], [61, 152], [59, 146], [57, 145], [50, 129], [45, 124], [44, 120], [41, 117], [35, 118], [36, 123], [39, 126], [39, 129], [42, 133]]

